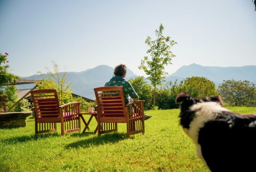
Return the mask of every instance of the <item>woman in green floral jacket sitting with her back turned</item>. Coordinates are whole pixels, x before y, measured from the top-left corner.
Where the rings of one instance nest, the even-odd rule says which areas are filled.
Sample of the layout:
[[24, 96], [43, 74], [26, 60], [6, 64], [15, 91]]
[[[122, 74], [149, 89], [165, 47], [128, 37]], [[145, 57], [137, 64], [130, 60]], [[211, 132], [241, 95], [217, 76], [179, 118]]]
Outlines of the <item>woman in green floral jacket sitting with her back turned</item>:
[[[135, 92], [135, 90], [133, 89], [131, 83], [129, 81], [126, 81], [124, 79], [124, 77], [126, 76], [126, 66], [124, 64], [120, 64], [118, 66], [115, 67], [114, 69], [114, 75], [110, 81], [108, 81], [104, 87], [107, 86], [121, 86], [123, 87], [123, 91], [124, 91], [124, 99], [125, 99], [125, 103], [128, 104], [130, 102], [137, 102], [139, 100], [139, 96], [138, 94]], [[129, 98], [131, 97], [131, 98]], [[146, 115], [144, 114], [144, 119], [148, 119], [151, 118], [152, 115]]]

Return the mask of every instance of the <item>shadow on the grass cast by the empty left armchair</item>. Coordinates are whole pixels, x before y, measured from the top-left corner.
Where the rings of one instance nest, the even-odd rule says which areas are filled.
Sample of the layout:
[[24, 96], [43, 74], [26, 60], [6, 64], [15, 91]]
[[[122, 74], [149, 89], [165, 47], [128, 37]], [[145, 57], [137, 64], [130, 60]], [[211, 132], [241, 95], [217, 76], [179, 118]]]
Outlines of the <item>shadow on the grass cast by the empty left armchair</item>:
[[17, 136], [17, 137], [12, 137], [8, 139], [1, 139], [2, 142], [6, 144], [17, 144], [21, 142], [27, 142], [27, 141], [32, 141], [32, 140], [41, 140], [45, 138], [50, 138], [50, 137], [60, 137], [61, 135], [56, 133], [56, 132], [51, 132], [51, 133], [42, 133], [42, 134], [33, 134], [33, 135], [24, 135], [24, 136]]

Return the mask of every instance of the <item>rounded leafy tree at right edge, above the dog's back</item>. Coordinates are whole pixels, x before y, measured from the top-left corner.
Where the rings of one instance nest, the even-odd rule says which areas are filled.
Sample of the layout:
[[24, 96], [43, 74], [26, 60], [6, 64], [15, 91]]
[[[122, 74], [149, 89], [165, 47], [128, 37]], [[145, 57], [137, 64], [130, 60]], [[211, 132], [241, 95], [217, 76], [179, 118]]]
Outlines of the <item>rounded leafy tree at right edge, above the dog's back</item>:
[[225, 104], [231, 106], [255, 106], [256, 88], [250, 81], [223, 81], [219, 85], [219, 92]]

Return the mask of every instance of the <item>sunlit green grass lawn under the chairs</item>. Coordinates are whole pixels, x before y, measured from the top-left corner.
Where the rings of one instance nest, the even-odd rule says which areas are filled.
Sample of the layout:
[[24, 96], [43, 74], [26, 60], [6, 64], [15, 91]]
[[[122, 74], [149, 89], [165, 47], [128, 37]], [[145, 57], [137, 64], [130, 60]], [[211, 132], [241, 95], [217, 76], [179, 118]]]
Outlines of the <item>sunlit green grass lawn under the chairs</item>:
[[[179, 112], [146, 111], [153, 117], [145, 121], [145, 134], [129, 139], [125, 124], [118, 124], [117, 133], [100, 137], [79, 132], [61, 136], [60, 125], [57, 133], [35, 135], [30, 117], [26, 127], [0, 129], [0, 171], [208, 171], [179, 125]], [[93, 119], [90, 128], [96, 125]]]

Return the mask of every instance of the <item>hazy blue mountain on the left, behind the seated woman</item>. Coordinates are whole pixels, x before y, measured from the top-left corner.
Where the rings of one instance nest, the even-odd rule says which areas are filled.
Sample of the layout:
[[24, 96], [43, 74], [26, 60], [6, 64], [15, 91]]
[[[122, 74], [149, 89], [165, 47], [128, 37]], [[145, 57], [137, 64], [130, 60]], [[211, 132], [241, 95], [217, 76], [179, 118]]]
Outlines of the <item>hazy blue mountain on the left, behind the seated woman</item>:
[[[82, 72], [66, 72], [67, 82], [72, 82], [70, 88], [73, 93], [95, 99], [93, 88], [102, 87], [106, 82], [109, 81], [114, 72], [114, 68], [107, 65], [100, 65], [92, 69], [87, 69]], [[63, 74], [63, 73], [60, 73]], [[48, 77], [45, 75], [44, 77]], [[137, 77], [130, 69], [127, 69], [126, 80]], [[41, 75], [32, 75], [29, 77], [23, 77], [24, 79], [43, 79]], [[18, 89], [29, 89], [33, 88], [34, 84], [17, 85]]]

